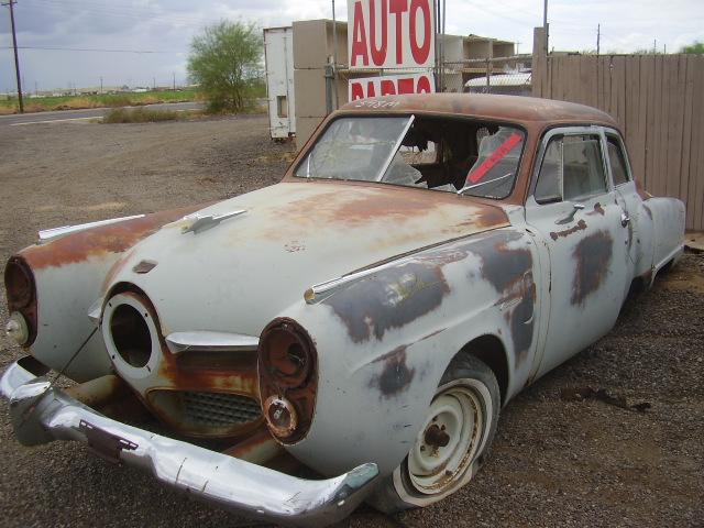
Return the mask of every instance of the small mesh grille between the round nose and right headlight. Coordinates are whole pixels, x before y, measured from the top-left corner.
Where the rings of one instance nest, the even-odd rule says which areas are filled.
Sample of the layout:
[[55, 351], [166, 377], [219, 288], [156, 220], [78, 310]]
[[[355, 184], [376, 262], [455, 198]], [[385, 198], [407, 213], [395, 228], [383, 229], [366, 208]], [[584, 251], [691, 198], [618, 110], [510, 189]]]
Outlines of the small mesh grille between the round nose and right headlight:
[[228, 427], [261, 417], [258, 402], [246, 396], [194, 392], [180, 395], [186, 418], [195, 425]]

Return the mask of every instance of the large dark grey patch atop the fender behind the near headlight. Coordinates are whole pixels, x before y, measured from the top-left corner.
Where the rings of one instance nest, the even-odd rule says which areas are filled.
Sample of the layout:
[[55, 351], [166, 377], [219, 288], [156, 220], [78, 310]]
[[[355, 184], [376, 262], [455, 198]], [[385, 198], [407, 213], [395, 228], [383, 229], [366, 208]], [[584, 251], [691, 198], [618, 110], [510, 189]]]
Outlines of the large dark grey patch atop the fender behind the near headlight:
[[432, 311], [449, 292], [440, 266], [418, 258], [380, 270], [322, 302], [346, 326], [352, 341], [362, 343]]

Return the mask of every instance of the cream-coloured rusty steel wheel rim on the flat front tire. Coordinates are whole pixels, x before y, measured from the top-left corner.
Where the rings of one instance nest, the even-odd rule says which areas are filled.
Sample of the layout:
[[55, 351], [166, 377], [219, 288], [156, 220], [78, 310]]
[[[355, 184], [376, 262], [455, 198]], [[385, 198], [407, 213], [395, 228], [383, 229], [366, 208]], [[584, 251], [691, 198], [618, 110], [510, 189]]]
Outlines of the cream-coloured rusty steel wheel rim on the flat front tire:
[[408, 453], [414, 488], [431, 495], [461, 483], [481, 444], [485, 421], [481, 397], [472, 387], [454, 385], [439, 392]]

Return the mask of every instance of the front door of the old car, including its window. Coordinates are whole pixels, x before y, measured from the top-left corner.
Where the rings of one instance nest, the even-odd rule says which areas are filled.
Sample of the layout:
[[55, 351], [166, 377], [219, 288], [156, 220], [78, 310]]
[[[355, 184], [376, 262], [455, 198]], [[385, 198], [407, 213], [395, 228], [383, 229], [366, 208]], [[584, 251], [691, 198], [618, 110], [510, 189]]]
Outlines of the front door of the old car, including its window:
[[602, 141], [597, 127], [572, 127], [549, 131], [541, 143], [526, 221], [547, 253], [549, 308], [532, 376], [606, 333], [630, 282], [628, 231]]

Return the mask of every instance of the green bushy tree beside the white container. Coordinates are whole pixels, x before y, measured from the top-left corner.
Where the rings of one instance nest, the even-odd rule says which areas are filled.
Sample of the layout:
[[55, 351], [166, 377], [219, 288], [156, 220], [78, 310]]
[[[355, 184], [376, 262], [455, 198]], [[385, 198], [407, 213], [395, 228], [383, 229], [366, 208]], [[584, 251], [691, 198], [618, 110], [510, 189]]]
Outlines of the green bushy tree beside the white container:
[[250, 107], [262, 77], [262, 34], [254, 23], [221, 21], [190, 43], [188, 75], [200, 85], [210, 111]]

